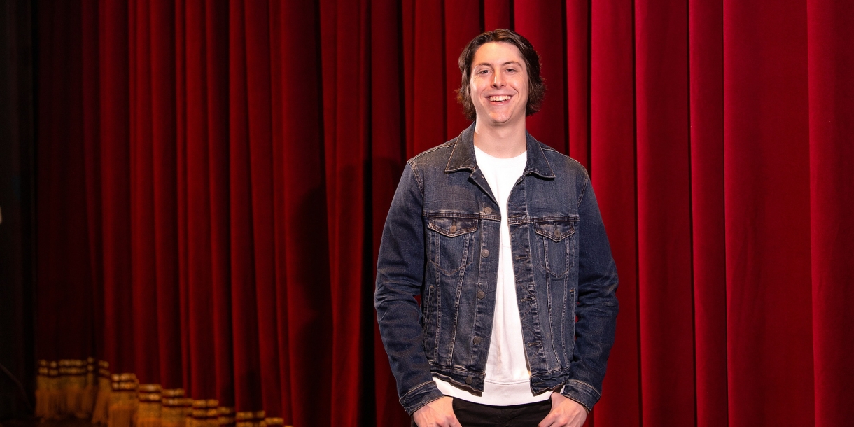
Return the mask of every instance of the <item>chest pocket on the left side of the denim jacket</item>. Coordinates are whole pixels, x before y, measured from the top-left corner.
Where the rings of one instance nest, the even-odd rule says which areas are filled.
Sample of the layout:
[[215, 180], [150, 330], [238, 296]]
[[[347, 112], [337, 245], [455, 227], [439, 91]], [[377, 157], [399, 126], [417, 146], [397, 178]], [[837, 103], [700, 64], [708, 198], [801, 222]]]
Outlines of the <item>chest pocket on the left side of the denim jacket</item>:
[[454, 276], [474, 261], [477, 219], [430, 217], [430, 262], [447, 276]]

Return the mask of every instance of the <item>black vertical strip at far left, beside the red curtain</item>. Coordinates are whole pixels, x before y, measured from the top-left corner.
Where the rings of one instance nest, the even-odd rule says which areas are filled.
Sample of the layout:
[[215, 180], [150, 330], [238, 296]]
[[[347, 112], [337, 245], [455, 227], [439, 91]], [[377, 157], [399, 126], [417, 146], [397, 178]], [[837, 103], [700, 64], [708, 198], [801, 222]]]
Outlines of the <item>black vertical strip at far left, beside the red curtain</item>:
[[34, 405], [33, 8], [0, 3], [0, 420]]

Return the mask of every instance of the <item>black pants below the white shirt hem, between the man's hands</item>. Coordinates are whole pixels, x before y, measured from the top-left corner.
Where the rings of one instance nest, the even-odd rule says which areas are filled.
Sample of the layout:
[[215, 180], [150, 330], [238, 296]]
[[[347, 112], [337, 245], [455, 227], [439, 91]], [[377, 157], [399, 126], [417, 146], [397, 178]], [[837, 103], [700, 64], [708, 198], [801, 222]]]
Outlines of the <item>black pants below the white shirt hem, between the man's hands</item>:
[[[551, 410], [551, 399], [512, 407], [453, 400], [453, 413], [463, 427], [535, 427]], [[415, 421], [412, 421], [412, 427], [416, 427]]]

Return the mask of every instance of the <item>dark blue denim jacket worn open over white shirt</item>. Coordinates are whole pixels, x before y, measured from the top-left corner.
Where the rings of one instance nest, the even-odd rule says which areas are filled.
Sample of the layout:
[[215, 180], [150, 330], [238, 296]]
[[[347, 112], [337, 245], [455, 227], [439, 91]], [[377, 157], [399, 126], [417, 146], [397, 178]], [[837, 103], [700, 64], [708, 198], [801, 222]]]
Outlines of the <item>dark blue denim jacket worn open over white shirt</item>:
[[[506, 215], [530, 387], [537, 395], [563, 386], [590, 410], [614, 341], [617, 269], [587, 171], [526, 136], [528, 161]], [[442, 397], [432, 377], [483, 392], [504, 210], [477, 167], [473, 124], [407, 162], [374, 301], [410, 414]]]

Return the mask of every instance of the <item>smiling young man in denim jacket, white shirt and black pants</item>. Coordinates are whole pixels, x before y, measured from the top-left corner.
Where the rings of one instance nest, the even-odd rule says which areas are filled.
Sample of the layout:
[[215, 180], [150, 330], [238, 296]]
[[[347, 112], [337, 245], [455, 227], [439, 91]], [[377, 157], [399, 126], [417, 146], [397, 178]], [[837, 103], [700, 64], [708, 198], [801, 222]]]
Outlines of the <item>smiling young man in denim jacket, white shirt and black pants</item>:
[[418, 427], [581, 426], [617, 319], [590, 178], [525, 130], [545, 91], [528, 40], [484, 32], [459, 69], [475, 121], [407, 162], [380, 245], [377, 321], [401, 404]]

